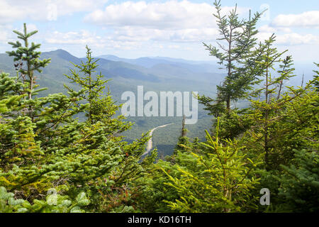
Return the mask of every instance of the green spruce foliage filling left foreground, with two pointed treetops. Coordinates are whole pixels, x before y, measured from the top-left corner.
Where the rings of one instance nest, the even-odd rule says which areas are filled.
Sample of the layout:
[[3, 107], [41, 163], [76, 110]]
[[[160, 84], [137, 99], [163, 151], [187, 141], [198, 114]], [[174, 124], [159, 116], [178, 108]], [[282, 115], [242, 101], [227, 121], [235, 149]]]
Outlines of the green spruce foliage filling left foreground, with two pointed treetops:
[[[18, 38], [25, 40], [26, 48], [28, 38], [34, 33], [26, 33], [23, 37], [18, 34]], [[147, 135], [131, 144], [118, 136], [130, 127], [130, 123], [122, 122], [123, 116], [114, 117], [119, 106], [110, 92], [103, 95], [103, 84], [107, 82], [103, 76], [91, 77], [96, 62], [91, 58], [89, 48], [86, 62], [78, 66], [86, 77], [79, 76], [75, 70], [69, 76], [79, 85], [79, 92], [67, 87], [68, 95], [38, 97], [33, 96], [36, 91], [30, 89], [28, 83], [35, 81], [34, 70], [40, 72], [39, 67], [44, 67], [47, 62], [39, 63], [40, 52], [28, 57], [28, 51], [39, 45], [32, 45], [32, 50], [23, 49], [24, 52], [18, 42], [13, 46], [16, 47], [15, 60], [28, 62], [28, 72], [21, 69], [18, 72], [28, 73], [29, 79], [18, 74], [17, 77], [1, 74], [0, 185], [9, 194], [14, 192], [13, 196], [25, 201], [18, 204], [30, 204], [28, 207], [23, 205], [27, 209], [23, 211], [73, 212], [83, 211], [84, 206], [86, 211], [103, 211], [103, 194], [111, 194], [113, 199], [121, 191], [119, 188], [134, 190], [133, 180], [142, 177], [144, 170], [138, 161], [145, 149]], [[25, 96], [28, 99], [24, 99]], [[81, 114], [87, 116], [86, 121], [78, 121], [76, 116]], [[47, 206], [41, 196], [51, 189], [61, 195], [54, 207]], [[3, 204], [3, 209], [9, 211], [22, 207], [6, 207], [7, 201]], [[123, 204], [116, 204], [108, 211]]]

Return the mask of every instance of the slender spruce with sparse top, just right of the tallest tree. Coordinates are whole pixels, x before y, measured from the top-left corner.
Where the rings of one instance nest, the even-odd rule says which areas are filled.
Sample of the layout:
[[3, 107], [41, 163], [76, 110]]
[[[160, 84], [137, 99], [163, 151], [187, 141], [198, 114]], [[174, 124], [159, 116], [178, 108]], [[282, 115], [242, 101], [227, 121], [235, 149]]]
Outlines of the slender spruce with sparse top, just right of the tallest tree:
[[[276, 131], [281, 131], [281, 128], [277, 128], [278, 122], [283, 121], [284, 111], [287, 109], [287, 105], [306, 92], [310, 84], [301, 89], [293, 89], [289, 87], [288, 91], [282, 94], [284, 80], [288, 80], [293, 77], [293, 68], [291, 56], [282, 59], [284, 52], [278, 52], [272, 45], [275, 41], [275, 36], [272, 35], [265, 43], [262, 44], [262, 53], [259, 53], [261, 59], [257, 62], [257, 67], [260, 69], [260, 77], [264, 77], [264, 87], [257, 89], [252, 93], [254, 97], [260, 97], [264, 94], [263, 99], [250, 99], [251, 108], [247, 114], [252, 116], [252, 126], [254, 133], [259, 135], [250, 135], [250, 138], [257, 138], [258, 141], [262, 140], [262, 147], [259, 150], [264, 152], [264, 161], [267, 170], [276, 169], [279, 163], [283, 164], [285, 161], [279, 158], [279, 150], [275, 150], [276, 140], [283, 138], [286, 133], [279, 135]], [[275, 67], [279, 67], [279, 70], [274, 70]], [[278, 76], [276, 76], [278, 74]], [[278, 135], [279, 137], [275, 137]], [[281, 154], [282, 155], [282, 154]], [[281, 159], [281, 161], [279, 161]], [[291, 159], [291, 156], [286, 153], [286, 160]], [[282, 162], [284, 161], [284, 162]]]

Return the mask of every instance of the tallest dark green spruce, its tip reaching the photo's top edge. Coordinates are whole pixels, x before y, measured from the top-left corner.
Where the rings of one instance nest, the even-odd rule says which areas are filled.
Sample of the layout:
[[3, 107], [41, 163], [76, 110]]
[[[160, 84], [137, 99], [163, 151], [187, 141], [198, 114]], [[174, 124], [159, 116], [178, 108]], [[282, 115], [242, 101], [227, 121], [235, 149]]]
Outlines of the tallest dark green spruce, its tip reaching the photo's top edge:
[[212, 56], [217, 57], [218, 63], [227, 71], [227, 76], [223, 84], [217, 86], [217, 99], [206, 96], [198, 96], [198, 99], [206, 105], [211, 114], [220, 116], [225, 108], [229, 113], [230, 102], [244, 98], [247, 91], [256, 83], [257, 69], [251, 57], [257, 40], [256, 24], [261, 14], [257, 12], [253, 17], [250, 14], [247, 20], [241, 20], [237, 14], [237, 5], [227, 17], [221, 14], [220, 1], [216, 0], [214, 6], [217, 11], [214, 16], [220, 33], [218, 40], [222, 42], [217, 43], [218, 48], [206, 43], [204, 45]]

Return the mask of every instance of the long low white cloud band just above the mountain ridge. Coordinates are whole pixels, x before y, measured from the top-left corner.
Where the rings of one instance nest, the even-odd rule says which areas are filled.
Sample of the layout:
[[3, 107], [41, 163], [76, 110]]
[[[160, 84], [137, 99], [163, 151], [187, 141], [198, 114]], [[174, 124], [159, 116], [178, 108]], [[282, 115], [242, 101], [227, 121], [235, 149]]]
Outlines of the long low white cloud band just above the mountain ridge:
[[[106, 35], [96, 35], [91, 31], [70, 31], [61, 33], [54, 31], [43, 35], [45, 42], [62, 45], [94, 45], [109, 46], [114, 45], [124, 47], [125, 45], [138, 45], [148, 41], [173, 42], [173, 43], [201, 43], [201, 41], [215, 40], [218, 30], [216, 28], [207, 29], [180, 29], [180, 30], [159, 30], [154, 28], [133, 28], [125, 26], [115, 28], [114, 31], [106, 32]], [[134, 47], [133, 47], [134, 48]]]

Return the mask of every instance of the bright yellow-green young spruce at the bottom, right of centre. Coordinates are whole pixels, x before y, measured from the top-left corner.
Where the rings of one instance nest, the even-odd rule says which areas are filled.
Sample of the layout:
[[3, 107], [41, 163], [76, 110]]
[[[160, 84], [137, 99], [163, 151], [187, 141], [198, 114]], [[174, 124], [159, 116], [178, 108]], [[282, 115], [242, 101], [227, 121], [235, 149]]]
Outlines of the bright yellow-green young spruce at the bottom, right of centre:
[[[179, 174], [174, 176], [162, 170], [169, 177], [165, 183], [174, 188], [178, 199], [168, 201], [171, 209], [179, 212], [236, 212], [251, 209], [256, 197], [250, 190], [258, 184], [258, 179], [250, 172], [258, 163], [246, 157], [236, 141], [218, 140], [206, 131], [207, 142], [201, 143], [206, 149], [205, 155], [178, 153]], [[187, 158], [188, 160], [185, 160]], [[184, 160], [184, 163], [183, 163]]]

